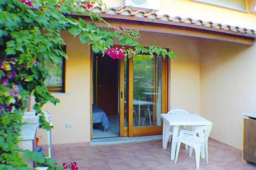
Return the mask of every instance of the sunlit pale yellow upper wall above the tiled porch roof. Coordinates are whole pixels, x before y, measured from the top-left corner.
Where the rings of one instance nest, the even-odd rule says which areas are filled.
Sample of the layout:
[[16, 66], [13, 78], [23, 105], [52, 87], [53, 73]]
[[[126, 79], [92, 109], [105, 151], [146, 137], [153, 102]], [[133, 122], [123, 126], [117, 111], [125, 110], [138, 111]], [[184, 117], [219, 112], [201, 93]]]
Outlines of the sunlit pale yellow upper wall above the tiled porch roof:
[[[122, 0], [104, 0], [104, 2], [108, 7], [122, 5]], [[249, 5], [252, 6], [253, 2]], [[169, 16], [201, 19], [203, 21], [221, 23], [222, 25], [256, 29], [256, 17], [253, 13], [240, 12], [190, 0], [160, 0], [160, 11], [157, 13], [160, 15], [168, 14]]]

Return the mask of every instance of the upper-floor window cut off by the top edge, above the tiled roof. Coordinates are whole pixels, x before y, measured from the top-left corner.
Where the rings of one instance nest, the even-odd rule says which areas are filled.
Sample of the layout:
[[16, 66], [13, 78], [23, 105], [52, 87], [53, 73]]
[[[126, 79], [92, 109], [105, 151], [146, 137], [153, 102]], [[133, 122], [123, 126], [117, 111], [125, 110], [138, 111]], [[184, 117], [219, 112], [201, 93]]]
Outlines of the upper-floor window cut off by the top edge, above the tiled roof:
[[200, 3], [215, 5], [224, 8], [230, 8], [238, 11], [247, 11], [245, 0], [191, 0]]

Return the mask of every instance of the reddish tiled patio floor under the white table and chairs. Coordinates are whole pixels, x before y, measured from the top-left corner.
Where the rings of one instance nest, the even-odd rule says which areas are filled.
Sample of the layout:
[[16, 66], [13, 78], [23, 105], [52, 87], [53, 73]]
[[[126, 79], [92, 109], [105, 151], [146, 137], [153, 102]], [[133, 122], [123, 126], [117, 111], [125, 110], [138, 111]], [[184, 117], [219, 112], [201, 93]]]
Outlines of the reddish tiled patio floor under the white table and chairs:
[[[162, 141], [110, 144], [98, 146], [65, 147], [53, 149], [54, 159], [63, 162], [76, 161], [79, 170], [86, 169], [196, 169], [195, 156], [181, 148], [178, 161], [170, 160], [170, 146], [162, 149]], [[200, 160], [200, 169], [244, 170], [256, 169], [255, 164], [241, 160], [242, 153], [226, 144], [209, 139], [209, 163]]]

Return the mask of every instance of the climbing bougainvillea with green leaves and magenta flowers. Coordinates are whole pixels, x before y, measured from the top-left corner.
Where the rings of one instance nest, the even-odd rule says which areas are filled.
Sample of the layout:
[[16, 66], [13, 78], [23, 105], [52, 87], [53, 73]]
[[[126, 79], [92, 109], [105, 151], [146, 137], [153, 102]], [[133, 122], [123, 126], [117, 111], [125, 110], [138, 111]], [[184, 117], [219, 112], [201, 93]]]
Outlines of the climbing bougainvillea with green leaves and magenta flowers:
[[[144, 48], [133, 37], [137, 31], [114, 27], [105, 22], [91, 8], [97, 1], [75, 0], [2, 0], [0, 1], [0, 169], [32, 169], [24, 161], [31, 159], [45, 164], [48, 169], [62, 169], [53, 158], [46, 158], [44, 153], [37, 153], [18, 147], [19, 132], [22, 127], [24, 110], [29, 95], [33, 95], [36, 114], [44, 114], [42, 106], [59, 100], [48, 92], [45, 79], [48, 70], [42, 61], [56, 63], [62, 57], [64, 45], [61, 30], [68, 30], [79, 37], [81, 43], [91, 44], [95, 53], [109, 55], [113, 59], [132, 57], [134, 54], [147, 53], [162, 57], [174, 57], [175, 54], [161, 47]], [[70, 15], [76, 12], [78, 17]], [[91, 21], [79, 17], [86, 14]], [[104, 22], [112, 31], [97, 26], [95, 20]], [[112, 48], [113, 40], [132, 48]], [[44, 116], [39, 118], [40, 127], [50, 130]], [[20, 154], [22, 151], [23, 154]]]

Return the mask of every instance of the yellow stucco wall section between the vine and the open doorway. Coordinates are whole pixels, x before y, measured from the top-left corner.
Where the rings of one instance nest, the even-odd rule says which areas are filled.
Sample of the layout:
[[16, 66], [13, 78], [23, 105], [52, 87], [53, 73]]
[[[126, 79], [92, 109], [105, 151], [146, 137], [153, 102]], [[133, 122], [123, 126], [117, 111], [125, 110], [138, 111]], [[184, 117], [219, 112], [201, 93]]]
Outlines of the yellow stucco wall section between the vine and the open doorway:
[[[44, 107], [54, 122], [52, 140], [53, 143], [90, 141], [90, 46], [81, 44], [66, 31], [61, 35], [69, 57], [66, 60], [66, 93], [53, 93], [60, 103]], [[73, 123], [73, 128], [67, 129], [66, 123]], [[43, 130], [38, 131], [42, 136], [41, 144], [46, 143], [45, 134]]]

